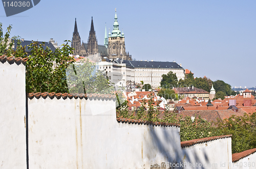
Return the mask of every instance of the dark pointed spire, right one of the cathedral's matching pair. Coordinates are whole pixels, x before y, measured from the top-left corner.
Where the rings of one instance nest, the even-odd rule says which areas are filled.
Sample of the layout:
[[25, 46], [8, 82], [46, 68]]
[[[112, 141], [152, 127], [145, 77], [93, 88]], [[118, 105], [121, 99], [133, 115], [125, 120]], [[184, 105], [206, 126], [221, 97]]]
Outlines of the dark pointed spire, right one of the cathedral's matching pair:
[[91, 30], [89, 32], [87, 51], [88, 51], [88, 54], [98, 53], [98, 42], [97, 42], [96, 34], [94, 31], [93, 17], [92, 17], [92, 22], [91, 22]]

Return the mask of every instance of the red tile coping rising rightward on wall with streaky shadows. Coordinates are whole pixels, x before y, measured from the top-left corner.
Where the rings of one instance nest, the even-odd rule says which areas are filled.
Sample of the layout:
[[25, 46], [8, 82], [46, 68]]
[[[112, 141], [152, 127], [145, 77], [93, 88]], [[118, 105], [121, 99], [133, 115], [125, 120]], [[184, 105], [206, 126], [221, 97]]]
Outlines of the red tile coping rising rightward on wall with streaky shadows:
[[196, 144], [211, 142], [212, 140], [215, 140], [215, 139], [228, 138], [228, 137], [231, 137], [231, 136], [232, 135], [221, 135], [221, 136], [213, 136], [213, 137], [192, 139], [192, 140], [188, 140], [188, 141], [185, 141], [185, 142], [180, 142], [180, 145], [181, 145], [182, 148], [185, 148], [185, 147], [194, 146]]

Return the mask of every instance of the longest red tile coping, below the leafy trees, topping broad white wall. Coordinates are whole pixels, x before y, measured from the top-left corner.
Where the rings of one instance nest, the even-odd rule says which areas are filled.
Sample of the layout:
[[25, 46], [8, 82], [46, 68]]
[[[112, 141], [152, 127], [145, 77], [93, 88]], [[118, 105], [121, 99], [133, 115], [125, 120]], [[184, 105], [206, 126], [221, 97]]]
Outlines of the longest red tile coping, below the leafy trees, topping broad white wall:
[[29, 93], [28, 94], [28, 98], [29, 99], [33, 99], [33, 98], [36, 98], [36, 99], [39, 99], [40, 97], [42, 97], [43, 99], [46, 99], [47, 97], [49, 97], [50, 99], [53, 99], [54, 97], [56, 97], [57, 99], [72, 99], [72, 98], [80, 98], [80, 99], [98, 99], [98, 100], [114, 100], [116, 98], [116, 95], [105, 95], [105, 94], [78, 94], [78, 93], [48, 93], [48, 92], [45, 92], [45, 93]]

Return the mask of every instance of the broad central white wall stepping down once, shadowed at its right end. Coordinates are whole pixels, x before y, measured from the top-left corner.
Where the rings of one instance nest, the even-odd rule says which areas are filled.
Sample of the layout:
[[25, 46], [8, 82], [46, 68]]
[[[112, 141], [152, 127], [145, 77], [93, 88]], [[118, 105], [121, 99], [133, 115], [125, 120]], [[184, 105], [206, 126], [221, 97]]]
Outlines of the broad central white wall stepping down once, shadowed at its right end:
[[29, 99], [30, 168], [150, 168], [179, 160], [179, 127], [118, 123], [113, 100]]

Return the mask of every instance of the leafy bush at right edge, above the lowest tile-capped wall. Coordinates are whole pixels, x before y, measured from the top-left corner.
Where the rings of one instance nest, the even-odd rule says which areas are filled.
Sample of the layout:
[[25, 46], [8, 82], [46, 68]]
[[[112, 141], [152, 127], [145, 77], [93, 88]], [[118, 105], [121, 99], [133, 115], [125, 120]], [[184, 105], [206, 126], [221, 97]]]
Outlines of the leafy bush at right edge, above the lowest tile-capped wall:
[[232, 134], [232, 153], [256, 148], [256, 112], [231, 116], [215, 123], [218, 135]]

